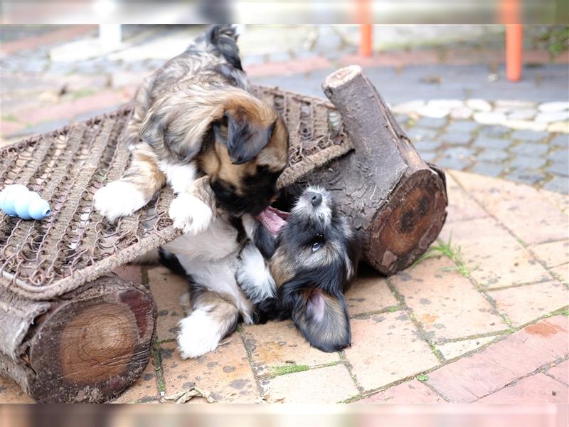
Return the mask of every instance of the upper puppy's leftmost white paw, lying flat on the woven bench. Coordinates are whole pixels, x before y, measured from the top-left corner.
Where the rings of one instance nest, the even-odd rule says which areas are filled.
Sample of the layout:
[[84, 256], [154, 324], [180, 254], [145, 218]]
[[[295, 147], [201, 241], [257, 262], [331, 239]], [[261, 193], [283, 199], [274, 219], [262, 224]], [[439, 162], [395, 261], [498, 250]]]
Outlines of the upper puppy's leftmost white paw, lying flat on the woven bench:
[[97, 190], [93, 206], [110, 220], [120, 216], [132, 215], [134, 211], [147, 204], [144, 194], [134, 184], [125, 181], [113, 181]]

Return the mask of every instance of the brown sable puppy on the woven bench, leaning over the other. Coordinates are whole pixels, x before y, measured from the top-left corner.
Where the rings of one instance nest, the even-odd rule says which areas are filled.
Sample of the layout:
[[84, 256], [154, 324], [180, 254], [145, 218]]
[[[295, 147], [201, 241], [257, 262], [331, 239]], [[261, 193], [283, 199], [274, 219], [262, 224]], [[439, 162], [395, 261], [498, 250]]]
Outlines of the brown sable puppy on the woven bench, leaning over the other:
[[215, 211], [213, 199], [201, 199], [193, 188], [205, 174], [230, 215], [259, 214], [277, 194], [288, 133], [248, 87], [235, 29], [211, 27], [138, 90], [122, 135], [132, 150], [129, 168], [97, 191], [95, 209], [110, 219], [130, 215], [168, 182], [176, 193], [169, 210], [174, 226], [199, 233]]

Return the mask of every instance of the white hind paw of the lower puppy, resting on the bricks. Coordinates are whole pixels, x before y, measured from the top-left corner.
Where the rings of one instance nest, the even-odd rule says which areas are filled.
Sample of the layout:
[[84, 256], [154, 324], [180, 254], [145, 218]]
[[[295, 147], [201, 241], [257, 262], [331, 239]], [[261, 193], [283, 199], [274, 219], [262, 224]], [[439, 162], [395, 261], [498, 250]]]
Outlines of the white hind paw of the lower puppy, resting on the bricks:
[[203, 310], [195, 310], [180, 320], [178, 347], [183, 359], [203, 356], [218, 347], [221, 339], [220, 325]]

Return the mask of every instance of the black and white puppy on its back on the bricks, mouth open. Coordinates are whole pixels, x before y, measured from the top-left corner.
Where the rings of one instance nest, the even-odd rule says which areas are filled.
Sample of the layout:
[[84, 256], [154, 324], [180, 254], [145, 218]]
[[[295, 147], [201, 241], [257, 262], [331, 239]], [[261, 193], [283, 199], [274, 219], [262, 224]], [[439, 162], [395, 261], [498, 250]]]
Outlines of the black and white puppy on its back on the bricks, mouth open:
[[[245, 231], [245, 233], [243, 233]], [[344, 291], [356, 273], [356, 238], [327, 191], [309, 188], [288, 214], [218, 216], [197, 236], [164, 246], [162, 262], [190, 281], [192, 312], [180, 322], [182, 357], [216, 349], [245, 323], [292, 320], [326, 352], [350, 344]]]

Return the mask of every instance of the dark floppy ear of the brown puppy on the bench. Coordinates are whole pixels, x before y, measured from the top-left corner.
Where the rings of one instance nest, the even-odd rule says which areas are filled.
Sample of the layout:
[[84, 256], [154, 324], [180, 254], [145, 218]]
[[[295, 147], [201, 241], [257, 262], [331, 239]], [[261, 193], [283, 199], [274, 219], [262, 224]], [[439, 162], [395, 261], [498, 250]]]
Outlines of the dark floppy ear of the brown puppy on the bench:
[[227, 138], [223, 137], [218, 125], [214, 126], [216, 137], [225, 145], [233, 164], [243, 164], [253, 159], [267, 145], [275, 122], [269, 127], [253, 124], [246, 114], [225, 112]]

